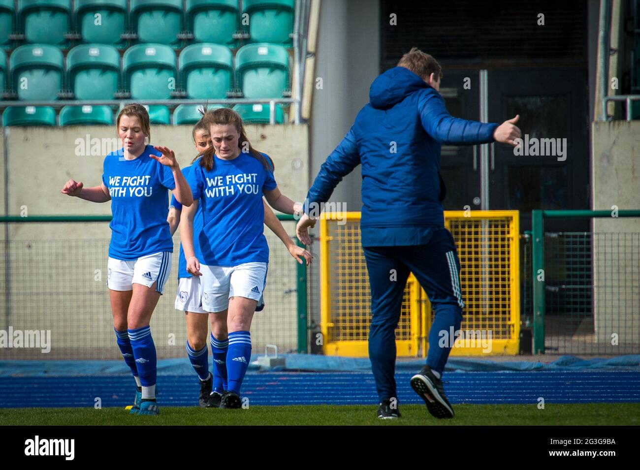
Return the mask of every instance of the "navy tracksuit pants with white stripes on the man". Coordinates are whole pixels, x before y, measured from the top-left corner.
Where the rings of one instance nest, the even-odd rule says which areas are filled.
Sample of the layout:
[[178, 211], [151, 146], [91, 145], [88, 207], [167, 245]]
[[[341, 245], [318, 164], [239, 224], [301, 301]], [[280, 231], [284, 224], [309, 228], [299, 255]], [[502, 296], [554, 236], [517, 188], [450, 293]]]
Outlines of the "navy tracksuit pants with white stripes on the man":
[[[460, 288], [460, 260], [446, 228], [434, 228], [426, 244], [364, 247], [371, 285], [369, 359], [380, 401], [397, 398], [396, 327], [400, 320], [404, 286], [410, 272], [431, 301], [435, 318], [429, 331], [427, 364], [442, 374], [451, 347], [440, 332], [460, 329], [464, 302]], [[395, 270], [396, 276], [393, 277]], [[395, 279], [395, 280], [392, 280]]]

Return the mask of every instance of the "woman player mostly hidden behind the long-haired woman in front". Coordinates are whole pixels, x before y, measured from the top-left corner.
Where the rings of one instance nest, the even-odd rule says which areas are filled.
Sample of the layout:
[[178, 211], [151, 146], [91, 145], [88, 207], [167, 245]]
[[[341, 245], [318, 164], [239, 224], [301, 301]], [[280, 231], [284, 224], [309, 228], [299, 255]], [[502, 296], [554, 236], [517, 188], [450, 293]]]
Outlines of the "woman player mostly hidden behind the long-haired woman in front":
[[[206, 109], [204, 110], [204, 113]], [[198, 154], [204, 153], [209, 148], [211, 136], [209, 136], [209, 127], [204, 120], [198, 121], [192, 131], [193, 143]], [[198, 165], [200, 155], [194, 159], [191, 166], [182, 169], [184, 175], [188, 175], [193, 166]], [[302, 263], [300, 257], [305, 258], [308, 262], [311, 260], [311, 254], [297, 246], [285, 231], [278, 217], [273, 213], [266, 202], [263, 201], [264, 207], [264, 224], [269, 230], [273, 231], [299, 263]], [[175, 200], [173, 196], [169, 207], [169, 217], [167, 221], [171, 228], [171, 233], [175, 232], [180, 223], [180, 214], [182, 205]], [[198, 206], [193, 218], [193, 238], [196, 258], [201, 257], [198, 254], [198, 237], [202, 230], [202, 205]], [[198, 404], [201, 407], [217, 408], [220, 406], [221, 396], [227, 388], [227, 368], [225, 364], [226, 357], [220, 357], [226, 354], [228, 340], [227, 338], [227, 317], [225, 313], [209, 313], [208, 317], [211, 322], [211, 351], [214, 354], [214, 373], [209, 373], [209, 355], [207, 353], [207, 311], [202, 308], [202, 285], [200, 276], [193, 276], [187, 272], [186, 260], [184, 258], [184, 249], [180, 244], [180, 255], [178, 262], [178, 292], [175, 297], [175, 308], [184, 311], [187, 324], [187, 343], [186, 350], [189, 362], [198, 374], [200, 379], [200, 396]], [[264, 301], [259, 302], [256, 311], [264, 308]], [[204, 315], [203, 315], [204, 314]], [[223, 321], [218, 321], [221, 318]], [[225, 338], [225, 341], [218, 341], [216, 338]]]

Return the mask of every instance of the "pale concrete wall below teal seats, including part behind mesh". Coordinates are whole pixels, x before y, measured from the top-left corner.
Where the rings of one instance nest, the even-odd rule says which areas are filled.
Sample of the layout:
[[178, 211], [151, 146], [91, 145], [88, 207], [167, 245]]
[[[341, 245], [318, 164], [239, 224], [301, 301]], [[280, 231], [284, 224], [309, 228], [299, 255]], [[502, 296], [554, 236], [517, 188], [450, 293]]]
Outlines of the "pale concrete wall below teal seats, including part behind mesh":
[[[111, 139], [113, 127], [67, 127], [4, 129], [6, 148], [0, 148], [0, 207], [8, 200], [8, 214], [86, 215], [111, 214], [111, 203], [96, 204], [60, 193], [74, 178], [86, 186], [100, 184], [104, 153], [87, 155], [91, 139]], [[302, 201], [308, 189], [307, 125], [247, 127], [258, 150], [275, 161], [280, 191]], [[89, 137], [87, 137], [89, 136]], [[152, 127], [152, 143], [166, 145], [177, 155], [180, 166], [191, 162], [195, 148], [191, 127]], [[4, 147], [3, 147], [4, 148]], [[96, 148], [96, 150], [98, 150]], [[90, 152], [91, 153], [91, 152]], [[8, 187], [4, 171], [8, 169]], [[26, 212], [25, 212], [26, 211]], [[284, 223], [292, 237], [294, 223]], [[4, 230], [2, 231], [4, 237]], [[113, 343], [111, 309], [106, 288], [106, 262], [111, 237], [107, 223], [12, 223], [9, 224], [9, 256], [0, 272], [0, 328], [50, 329], [54, 357], [120, 357]], [[280, 350], [296, 348], [296, 265], [289, 252], [269, 230], [271, 249], [266, 288], [266, 309], [257, 313], [252, 325], [256, 354], [273, 343]], [[186, 341], [183, 314], [173, 308], [177, 290], [179, 233], [174, 237], [172, 273], [152, 318], [152, 331], [162, 357], [184, 356]], [[6, 295], [6, 281], [10, 291]], [[171, 336], [172, 335], [172, 336]], [[3, 357], [31, 358], [33, 350], [4, 350]], [[38, 357], [40, 356], [38, 354]]]

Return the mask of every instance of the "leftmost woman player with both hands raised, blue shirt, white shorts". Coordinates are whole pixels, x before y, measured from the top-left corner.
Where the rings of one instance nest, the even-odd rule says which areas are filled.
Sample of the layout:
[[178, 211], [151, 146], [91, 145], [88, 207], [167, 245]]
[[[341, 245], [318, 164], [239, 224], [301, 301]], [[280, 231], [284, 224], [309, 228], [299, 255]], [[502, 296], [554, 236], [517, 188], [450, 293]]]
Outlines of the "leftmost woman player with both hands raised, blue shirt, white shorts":
[[92, 202], [111, 200], [108, 286], [116, 341], [136, 385], [132, 414], [159, 414], [156, 347], [149, 322], [171, 270], [173, 242], [166, 221], [167, 190], [184, 206], [193, 203], [175, 155], [147, 145], [149, 115], [125, 106], [116, 120], [122, 148], [104, 159], [102, 184], [85, 188], [68, 180], [63, 194]]

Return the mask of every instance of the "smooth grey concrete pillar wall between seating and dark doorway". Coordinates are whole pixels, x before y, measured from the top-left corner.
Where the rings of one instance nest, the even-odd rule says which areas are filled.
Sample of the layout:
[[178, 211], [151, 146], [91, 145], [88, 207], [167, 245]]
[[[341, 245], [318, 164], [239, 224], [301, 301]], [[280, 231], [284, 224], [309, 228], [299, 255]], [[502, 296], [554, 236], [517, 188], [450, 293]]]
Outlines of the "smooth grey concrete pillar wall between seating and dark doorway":
[[[369, 102], [369, 86], [380, 74], [380, 2], [323, 0], [320, 10], [316, 77], [311, 115], [310, 180], [348, 132], [358, 111]], [[360, 167], [333, 192], [332, 202], [360, 210]]]

